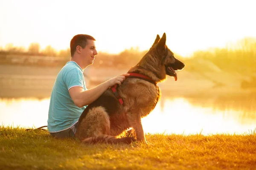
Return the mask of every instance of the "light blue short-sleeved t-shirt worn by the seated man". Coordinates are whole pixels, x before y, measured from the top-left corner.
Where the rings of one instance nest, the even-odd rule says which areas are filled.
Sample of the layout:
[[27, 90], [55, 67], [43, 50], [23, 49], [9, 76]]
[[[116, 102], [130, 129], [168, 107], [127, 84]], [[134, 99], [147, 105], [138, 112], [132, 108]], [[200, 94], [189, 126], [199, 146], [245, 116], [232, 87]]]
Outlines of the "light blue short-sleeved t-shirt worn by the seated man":
[[52, 88], [47, 125], [49, 132], [60, 132], [73, 126], [86, 108], [77, 107], [70, 97], [69, 89], [75, 86], [87, 90], [83, 70], [76, 62], [70, 61], [58, 73]]

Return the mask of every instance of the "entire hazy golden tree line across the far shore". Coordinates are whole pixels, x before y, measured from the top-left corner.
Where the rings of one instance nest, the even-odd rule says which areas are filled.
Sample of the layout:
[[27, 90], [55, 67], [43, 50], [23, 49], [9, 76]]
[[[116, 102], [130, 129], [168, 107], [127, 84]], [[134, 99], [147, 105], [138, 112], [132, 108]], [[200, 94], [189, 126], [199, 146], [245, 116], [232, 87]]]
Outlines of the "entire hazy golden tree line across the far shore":
[[[0, 52], [10, 54], [36, 55], [48, 57], [63, 57], [70, 59], [70, 48], [56, 51], [51, 45], [41, 49], [40, 44], [33, 42], [28, 49], [15, 47], [12, 44], [0, 48]], [[119, 54], [108, 54], [99, 52], [94, 62], [95, 67], [122, 67], [130, 68], [146, 54], [147, 51], [140, 51], [139, 48], [125, 49]], [[209, 48], [207, 50], [195, 51], [189, 58], [175, 55], [187, 64], [186, 70], [197, 71], [202, 67], [198, 61], [212, 62], [223, 71], [237, 71], [240, 73], [256, 73], [256, 38], [247, 37], [235, 44], [227, 45], [225, 48]], [[193, 67], [193, 68], [192, 68]], [[207, 68], [206, 68], [207, 69]]]

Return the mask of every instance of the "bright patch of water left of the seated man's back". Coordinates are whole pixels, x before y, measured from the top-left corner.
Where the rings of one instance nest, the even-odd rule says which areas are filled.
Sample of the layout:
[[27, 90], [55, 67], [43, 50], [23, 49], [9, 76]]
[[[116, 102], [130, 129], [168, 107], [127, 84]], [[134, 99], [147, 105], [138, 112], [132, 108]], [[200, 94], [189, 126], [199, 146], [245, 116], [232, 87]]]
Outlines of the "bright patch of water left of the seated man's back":
[[0, 124], [13, 127], [47, 125], [49, 99], [0, 99]]

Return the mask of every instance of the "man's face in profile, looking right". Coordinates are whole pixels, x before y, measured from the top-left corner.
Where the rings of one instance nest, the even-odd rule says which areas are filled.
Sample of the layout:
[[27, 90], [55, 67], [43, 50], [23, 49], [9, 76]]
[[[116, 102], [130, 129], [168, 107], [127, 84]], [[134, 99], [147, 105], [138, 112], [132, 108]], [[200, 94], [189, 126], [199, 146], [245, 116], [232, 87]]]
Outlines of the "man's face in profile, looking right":
[[95, 41], [87, 40], [87, 45], [84, 48], [81, 48], [81, 59], [87, 65], [92, 65], [95, 59], [95, 55], [98, 52], [96, 51]]

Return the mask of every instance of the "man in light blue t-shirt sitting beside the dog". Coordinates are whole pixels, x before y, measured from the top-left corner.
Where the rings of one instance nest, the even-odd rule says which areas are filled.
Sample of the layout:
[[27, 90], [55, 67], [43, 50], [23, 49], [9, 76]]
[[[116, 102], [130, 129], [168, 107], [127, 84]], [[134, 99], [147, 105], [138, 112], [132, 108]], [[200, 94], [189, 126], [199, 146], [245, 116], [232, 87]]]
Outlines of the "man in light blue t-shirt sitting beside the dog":
[[58, 73], [52, 88], [48, 113], [48, 130], [53, 137], [73, 137], [76, 124], [87, 105], [95, 101], [109, 87], [121, 84], [125, 76], [113, 77], [92, 89], [86, 89], [83, 71], [92, 65], [98, 54], [95, 39], [78, 34], [70, 41], [71, 59]]

